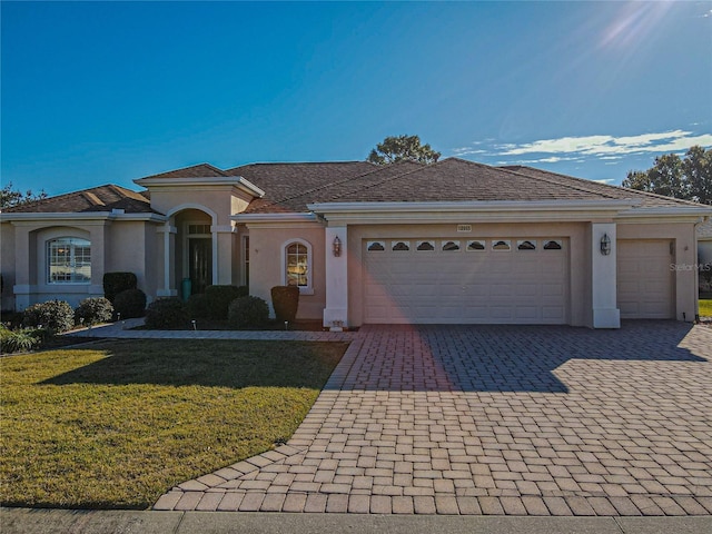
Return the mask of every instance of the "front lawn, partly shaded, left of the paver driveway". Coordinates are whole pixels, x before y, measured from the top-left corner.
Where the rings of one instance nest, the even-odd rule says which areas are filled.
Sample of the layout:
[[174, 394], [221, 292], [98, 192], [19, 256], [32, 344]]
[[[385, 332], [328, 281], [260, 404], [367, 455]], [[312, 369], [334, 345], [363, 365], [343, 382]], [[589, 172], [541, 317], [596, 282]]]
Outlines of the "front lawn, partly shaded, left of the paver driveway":
[[288, 439], [345, 349], [113, 340], [0, 358], [0, 502], [147, 508]]

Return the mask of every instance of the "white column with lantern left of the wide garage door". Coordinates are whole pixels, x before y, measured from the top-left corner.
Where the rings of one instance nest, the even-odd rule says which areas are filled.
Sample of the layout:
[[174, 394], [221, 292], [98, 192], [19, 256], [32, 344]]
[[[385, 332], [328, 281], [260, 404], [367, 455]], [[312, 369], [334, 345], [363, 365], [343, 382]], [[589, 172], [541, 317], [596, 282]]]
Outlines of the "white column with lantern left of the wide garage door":
[[[324, 308], [324, 326], [333, 332], [348, 326], [348, 270], [347, 270], [347, 231], [345, 226], [325, 229], [326, 255], [326, 308]], [[340, 241], [339, 256], [334, 255], [334, 240]]]

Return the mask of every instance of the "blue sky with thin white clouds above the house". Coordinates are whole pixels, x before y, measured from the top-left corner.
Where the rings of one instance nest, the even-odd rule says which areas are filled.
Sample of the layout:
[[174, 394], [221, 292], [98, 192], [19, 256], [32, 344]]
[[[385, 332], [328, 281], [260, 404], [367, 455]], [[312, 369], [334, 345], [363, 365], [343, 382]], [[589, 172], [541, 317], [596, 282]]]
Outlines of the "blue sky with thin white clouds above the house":
[[6, 2], [2, 184], [359, 160], [386, 136], [620, 184], [712, 146], [711, 2]]

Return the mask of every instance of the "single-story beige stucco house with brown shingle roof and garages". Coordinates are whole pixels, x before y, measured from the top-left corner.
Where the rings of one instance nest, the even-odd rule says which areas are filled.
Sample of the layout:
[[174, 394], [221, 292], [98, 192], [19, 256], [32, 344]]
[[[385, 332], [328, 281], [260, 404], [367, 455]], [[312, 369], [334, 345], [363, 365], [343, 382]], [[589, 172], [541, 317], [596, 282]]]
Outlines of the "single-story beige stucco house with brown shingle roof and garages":
[[712, 208], [531, 167], [457, 158], [202, 164], [0, 214], [2, 307], [296, 285], [299, 318], [363, 324], [692, 320], [695, 228]]

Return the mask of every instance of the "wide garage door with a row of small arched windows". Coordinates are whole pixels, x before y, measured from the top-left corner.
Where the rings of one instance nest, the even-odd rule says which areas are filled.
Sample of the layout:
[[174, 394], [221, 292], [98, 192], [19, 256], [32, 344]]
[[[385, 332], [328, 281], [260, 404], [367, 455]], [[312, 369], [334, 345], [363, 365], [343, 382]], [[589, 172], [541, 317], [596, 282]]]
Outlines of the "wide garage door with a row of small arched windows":
[[364, 322], [565, 324], [561, 238], [366, 239]]

